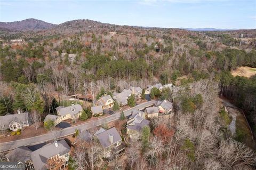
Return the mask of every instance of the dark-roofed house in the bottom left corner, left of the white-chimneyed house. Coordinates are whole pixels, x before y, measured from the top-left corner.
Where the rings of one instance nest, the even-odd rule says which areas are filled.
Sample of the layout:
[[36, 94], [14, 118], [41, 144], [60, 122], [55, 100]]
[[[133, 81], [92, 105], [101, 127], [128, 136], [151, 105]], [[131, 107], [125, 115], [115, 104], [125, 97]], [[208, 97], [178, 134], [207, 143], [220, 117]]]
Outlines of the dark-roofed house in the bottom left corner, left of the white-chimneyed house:
[[30, 157], [31, 152], [32, 150], [30, 150], [28, 147], [22, 146], [7, 153], [5, 155], [5, 158], [7, 159], [7, 161], [11, 162], [20, 161], [25, 165], [26, 169], [32, 170], [34, 169], [34, 167]]

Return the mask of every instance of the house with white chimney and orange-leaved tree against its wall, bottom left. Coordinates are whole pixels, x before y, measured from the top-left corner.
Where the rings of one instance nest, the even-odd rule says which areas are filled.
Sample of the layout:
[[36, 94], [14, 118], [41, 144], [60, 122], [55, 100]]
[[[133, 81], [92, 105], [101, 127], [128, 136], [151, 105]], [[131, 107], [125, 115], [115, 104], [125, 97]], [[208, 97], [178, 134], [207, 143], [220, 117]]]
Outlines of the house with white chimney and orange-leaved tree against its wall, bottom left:
[[70, 147], [65, 140], [54, 141], [30, 153], [36, 170], [59, 170], [68, 166]]

